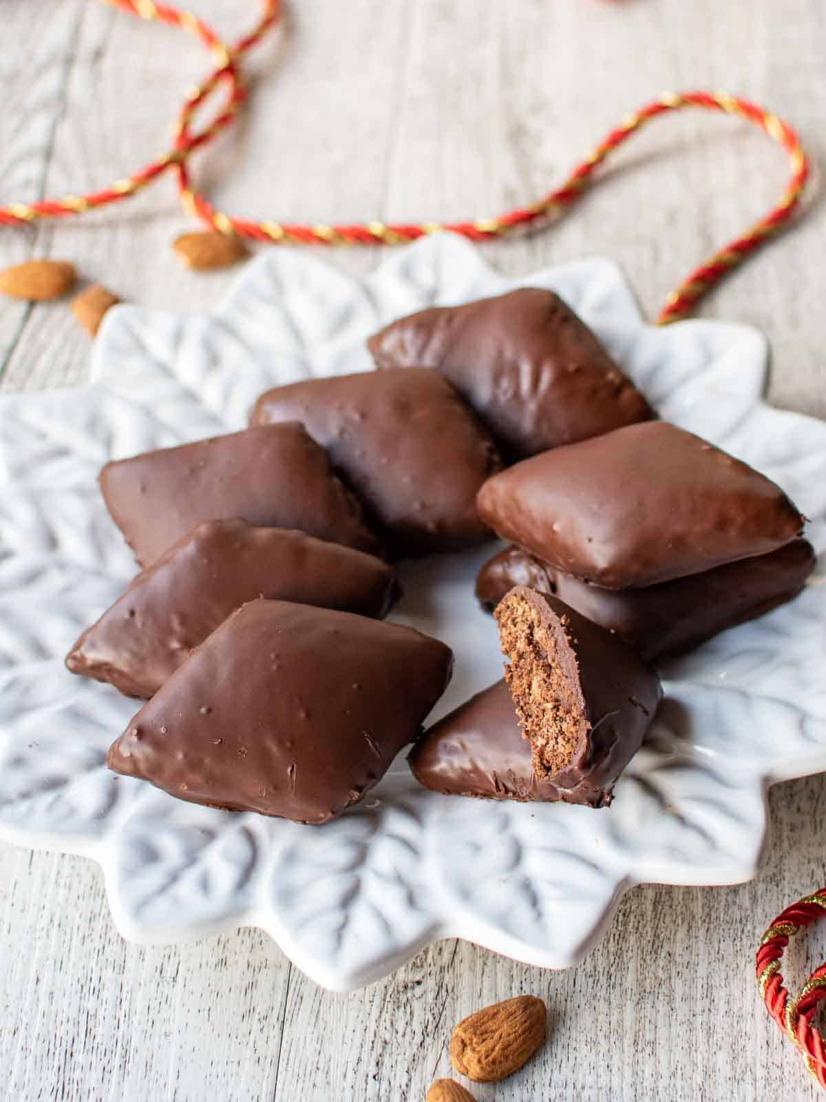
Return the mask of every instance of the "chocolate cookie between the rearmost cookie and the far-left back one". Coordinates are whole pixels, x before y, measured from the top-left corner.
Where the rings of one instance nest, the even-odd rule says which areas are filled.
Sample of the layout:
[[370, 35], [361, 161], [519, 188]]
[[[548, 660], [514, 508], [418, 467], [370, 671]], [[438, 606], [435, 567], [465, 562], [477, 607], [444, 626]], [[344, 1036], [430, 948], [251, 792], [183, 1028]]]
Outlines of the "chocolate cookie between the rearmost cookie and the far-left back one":
[[398, 558], [490, 537], [476, 493], [501, 462], [489, 434], [435, 371], [307, 379], [259, 398], [252, 424], [302, 421], [359, 494]]

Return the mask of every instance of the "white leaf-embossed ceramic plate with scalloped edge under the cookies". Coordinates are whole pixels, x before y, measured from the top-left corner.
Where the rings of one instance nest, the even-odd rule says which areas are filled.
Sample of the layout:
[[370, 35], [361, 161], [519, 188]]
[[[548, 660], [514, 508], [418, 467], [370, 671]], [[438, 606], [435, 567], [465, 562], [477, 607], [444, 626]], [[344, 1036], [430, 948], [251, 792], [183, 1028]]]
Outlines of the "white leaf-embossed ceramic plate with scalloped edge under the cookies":
[[[337, 990], [452, 936], [562, 968], [634, 883], [753, 876], [767, 784], [826, 769], [820, 573], [794, 604], [663, 668], [652, 737], [607, 811], [437, 796], [400, 758], [360, 807], [312, 828], [183, 803], [107, 771], [135, 704], [62, 662], [134, 572], [98, 495], [100, 466], [240, 429], [267, 387], [369, 369], [365, 337], [391, 318], [519, 284], [558, 291], [663, 417], [779, 482], [823, 553], [826, 424], [763, 404], [762, 336], [718, 322], [648, 326], [607, 260], [511, 281], [441, 236], [359, 282], [283, 250], [250, 263], [214, 314], [116, 307], [90, 386], [0, 400], [0, 838], [98, 861], [124, 937], [256, 925]], [[395, 618], [457, 655], [434, 715], [500, 674], [492, 620], [472, 595], [491, 550], [403, 569]]]

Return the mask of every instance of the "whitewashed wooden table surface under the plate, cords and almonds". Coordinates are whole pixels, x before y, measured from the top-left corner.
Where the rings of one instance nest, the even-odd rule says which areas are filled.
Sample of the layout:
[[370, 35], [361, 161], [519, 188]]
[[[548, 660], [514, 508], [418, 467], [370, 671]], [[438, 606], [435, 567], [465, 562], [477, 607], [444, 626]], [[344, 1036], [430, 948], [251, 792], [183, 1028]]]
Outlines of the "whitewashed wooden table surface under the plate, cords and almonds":
[[[228, 36], [254, 12], [252, 0], [196, 7]], [[139, 166], [164, 148], [182, 93], [206, 68], [180, 31], [94, 0], [0, 0], [0, 47], [3, 202], [87, 191]], [[261, 217], [488, 215], [548, 190], [626, 110], [688, 87], [771, 106], [823, 160], [825, 54], [822, 0], [293, 0], [281, 45], [250, 62], [249, 112], [200, 158], [199, 177]], [[509, 273], [611, 256], [653, 313], [768, 207], [785, 174], [753, 128], [670, 118], [637, 137], [564, 222], [486, 251]], [[203, 307], [231, 277], [182, 271], [170, 242], [188, 225], [164, 181], [93, 217], [0, 233], [0, 264], [73, 259], [131, 301]], [[825, 229], [815, 199], [703, 307], [764, 329], [770, 397], [820, 415]], [[379, 251], [330, 260], [363, 272]], [[79, 382], [87, 355], [65, 304], [0, 304], [0, 390]], [[573, 971], [447, 941], [347, 996], [317, 988], [257, 930], [124, 944], [90, 863], [0, 845], [0, 1096], [421, 1100], [449, 1072], [459, 1017], [532, 992], [550, 1007], [548, 1044], [514, 1079], [475, 1088], [480, 1100], [814, 1099], [758, 1002], [752, 960], [769, 919], [824, 879], [825, 804], [820, 777], [779, 786], [756, 883], [640, 887]], [[815, 933], [791, 957], [794, 979], [825, 944]]]

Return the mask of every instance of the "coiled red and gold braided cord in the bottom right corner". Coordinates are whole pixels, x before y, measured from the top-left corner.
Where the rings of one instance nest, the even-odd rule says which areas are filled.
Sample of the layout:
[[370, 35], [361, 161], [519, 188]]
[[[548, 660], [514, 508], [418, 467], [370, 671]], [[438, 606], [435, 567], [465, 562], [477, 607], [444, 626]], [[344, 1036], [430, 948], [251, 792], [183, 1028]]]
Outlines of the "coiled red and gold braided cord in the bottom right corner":
[[757, 953], [757, 984], [765, 1008], [778, 1026], [794, 1041], [806, 1067], [826, 1088], [826, 1047], [812, 1018], [826, 998], [826, 964], [816, 968], [792, 998], [780, 972], [783, 951], [800, 930], [826, 917], [826, 887], [786, 907], [760, 939]]

